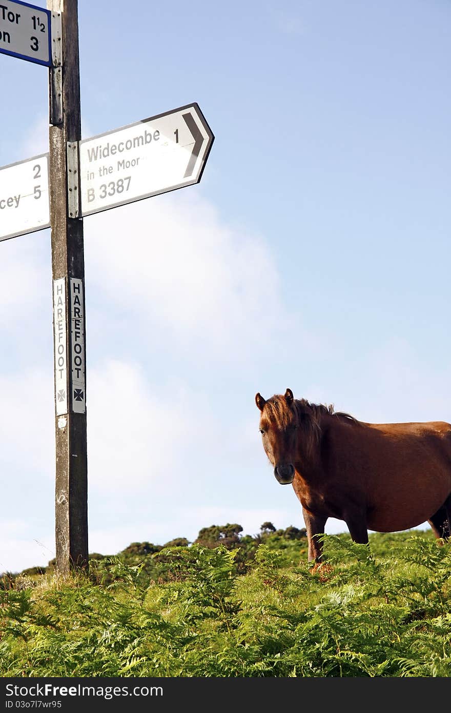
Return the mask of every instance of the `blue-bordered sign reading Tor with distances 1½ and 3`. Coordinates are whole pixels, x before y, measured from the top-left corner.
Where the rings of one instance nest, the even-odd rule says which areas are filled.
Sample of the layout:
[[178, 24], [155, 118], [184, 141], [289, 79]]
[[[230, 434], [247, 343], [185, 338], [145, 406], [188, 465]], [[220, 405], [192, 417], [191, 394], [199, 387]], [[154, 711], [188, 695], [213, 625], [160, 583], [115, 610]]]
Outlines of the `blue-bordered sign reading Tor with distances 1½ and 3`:
[[0, 52], [50, 67], [51, 12], [27, 2], [1, 1]]

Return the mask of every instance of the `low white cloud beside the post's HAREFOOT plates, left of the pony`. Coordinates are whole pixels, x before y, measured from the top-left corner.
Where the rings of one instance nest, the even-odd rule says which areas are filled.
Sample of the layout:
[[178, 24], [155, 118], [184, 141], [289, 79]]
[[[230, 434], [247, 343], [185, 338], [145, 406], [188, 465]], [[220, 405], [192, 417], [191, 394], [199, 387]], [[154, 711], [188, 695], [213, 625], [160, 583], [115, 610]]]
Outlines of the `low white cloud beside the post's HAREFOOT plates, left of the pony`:
[[149, 387], [140, 364], [110, 360], [88, 371], [91, 488], [139, 493], [177, 471], [197, 428], [187, 393], [161, 399]]

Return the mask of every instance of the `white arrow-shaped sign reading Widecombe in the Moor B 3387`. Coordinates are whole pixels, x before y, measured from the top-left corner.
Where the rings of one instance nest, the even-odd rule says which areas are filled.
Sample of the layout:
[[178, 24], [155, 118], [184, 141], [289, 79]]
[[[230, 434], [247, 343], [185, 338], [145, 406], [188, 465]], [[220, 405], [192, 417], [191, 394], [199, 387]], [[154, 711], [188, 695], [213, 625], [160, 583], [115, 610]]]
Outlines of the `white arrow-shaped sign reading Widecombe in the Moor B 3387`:
[[193, 103], [81, 141], [82, 215], [199, 183], [213, 140]]

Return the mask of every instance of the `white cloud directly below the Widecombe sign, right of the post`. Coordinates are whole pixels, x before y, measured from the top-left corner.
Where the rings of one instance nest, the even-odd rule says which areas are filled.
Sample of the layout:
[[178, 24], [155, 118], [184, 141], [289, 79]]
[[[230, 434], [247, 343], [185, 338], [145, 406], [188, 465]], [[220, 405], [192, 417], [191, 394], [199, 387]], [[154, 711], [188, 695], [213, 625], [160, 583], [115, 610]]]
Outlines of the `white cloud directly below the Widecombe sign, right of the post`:
[[157, 329], [196, 358], [241, 361], [285, 326], [271, 252], [206, 200], [158, 198], [85, 219], [88, 279], [142, 337]]

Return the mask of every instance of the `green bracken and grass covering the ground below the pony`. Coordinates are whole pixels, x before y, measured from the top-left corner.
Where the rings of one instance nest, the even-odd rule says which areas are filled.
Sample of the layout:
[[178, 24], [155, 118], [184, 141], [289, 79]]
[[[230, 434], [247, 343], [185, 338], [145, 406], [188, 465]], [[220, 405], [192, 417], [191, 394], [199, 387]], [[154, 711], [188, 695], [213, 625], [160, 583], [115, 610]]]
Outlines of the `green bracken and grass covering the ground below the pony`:
[[[2, 677], [450, 677], [451, 547], [426, 531], [173, 547], [0, 590]], [[148, 572], [152, 572], [152, 576]]]

